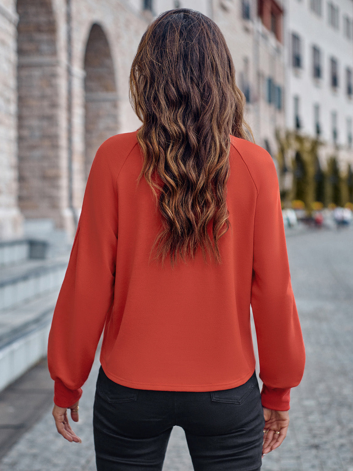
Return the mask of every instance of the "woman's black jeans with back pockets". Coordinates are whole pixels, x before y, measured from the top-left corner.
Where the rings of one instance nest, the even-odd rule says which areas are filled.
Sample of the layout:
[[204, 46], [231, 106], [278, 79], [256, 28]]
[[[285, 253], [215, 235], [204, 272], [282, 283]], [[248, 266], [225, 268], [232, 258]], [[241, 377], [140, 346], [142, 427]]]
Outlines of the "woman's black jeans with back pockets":
[[98, 471], [160, 471], [174, 425], [185, 431], [195, 471], [259, 471], [265, 426], [256, 374], [236, 388], [133, 389], [96, 383], [93, 431]]

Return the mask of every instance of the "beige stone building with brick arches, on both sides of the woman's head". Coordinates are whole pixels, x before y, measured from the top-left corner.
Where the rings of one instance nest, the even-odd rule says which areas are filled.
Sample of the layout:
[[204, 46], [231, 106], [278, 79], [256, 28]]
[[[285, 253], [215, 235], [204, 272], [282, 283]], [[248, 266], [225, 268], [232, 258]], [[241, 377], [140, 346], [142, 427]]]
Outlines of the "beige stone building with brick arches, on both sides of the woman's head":
[[46, 221], [73, 236], [96, 149], [140, 124], [128, 101], [138, 42], [154, 16], [183, 6], [221, 27], [256, 141], [275, 154], [281, 8], [273, 20], [248, 0], [1, 0], [0, 240], [40, 233]]

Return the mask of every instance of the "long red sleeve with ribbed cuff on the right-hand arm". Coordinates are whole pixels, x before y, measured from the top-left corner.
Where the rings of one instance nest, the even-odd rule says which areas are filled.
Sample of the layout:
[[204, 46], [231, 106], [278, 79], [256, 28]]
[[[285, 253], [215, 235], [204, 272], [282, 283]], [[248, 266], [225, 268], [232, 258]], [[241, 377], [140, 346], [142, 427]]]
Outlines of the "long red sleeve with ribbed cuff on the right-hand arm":
[[284, 411], [289, 410], [290, 388], [304, 374], [305, 347], [290, 278], [277, 172], [271, 155], [262, 151], [256, 182], [251, 308], [262, 405]]

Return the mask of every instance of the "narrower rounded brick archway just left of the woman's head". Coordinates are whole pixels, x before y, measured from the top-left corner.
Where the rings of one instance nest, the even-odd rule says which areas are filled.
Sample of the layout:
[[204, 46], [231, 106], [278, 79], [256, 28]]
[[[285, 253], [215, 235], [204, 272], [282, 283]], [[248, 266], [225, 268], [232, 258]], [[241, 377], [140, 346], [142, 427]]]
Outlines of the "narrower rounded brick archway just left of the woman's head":
[[85, 76], [85, 175], [98, 147], [118, 133], [118, 97], [114, 66], [106, 35], [93, 24], [84, 58]]

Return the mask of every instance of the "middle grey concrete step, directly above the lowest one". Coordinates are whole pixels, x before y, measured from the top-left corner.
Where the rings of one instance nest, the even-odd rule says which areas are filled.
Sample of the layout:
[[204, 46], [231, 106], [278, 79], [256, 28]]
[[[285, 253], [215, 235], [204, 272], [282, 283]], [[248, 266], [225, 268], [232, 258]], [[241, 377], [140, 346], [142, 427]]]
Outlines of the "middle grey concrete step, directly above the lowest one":
[[0, 312], [60, 287], [70, 253], [47, 260], [25, 260], [0, 270]]

